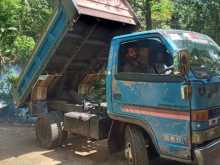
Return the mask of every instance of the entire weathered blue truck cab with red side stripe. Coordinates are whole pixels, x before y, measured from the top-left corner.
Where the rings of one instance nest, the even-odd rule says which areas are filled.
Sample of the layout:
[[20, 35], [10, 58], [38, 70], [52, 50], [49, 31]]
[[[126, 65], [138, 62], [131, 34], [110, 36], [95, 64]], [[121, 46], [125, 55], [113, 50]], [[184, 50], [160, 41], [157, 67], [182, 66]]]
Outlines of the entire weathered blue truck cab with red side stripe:
[[[219, 55], [212, 39], [189, 31], [113, 38], [106, 81], [109, 116], [140, 127], [162, 157], [216, 163]], [[134, 161], [130, 143], [125, 146]]]

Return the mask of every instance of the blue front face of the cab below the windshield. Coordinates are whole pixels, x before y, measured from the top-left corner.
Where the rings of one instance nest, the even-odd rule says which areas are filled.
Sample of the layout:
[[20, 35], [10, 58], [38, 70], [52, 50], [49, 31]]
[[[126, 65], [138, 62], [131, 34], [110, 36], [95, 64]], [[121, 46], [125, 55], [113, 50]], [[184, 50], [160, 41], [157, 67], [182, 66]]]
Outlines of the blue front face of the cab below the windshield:
[[[193, 79], [194, 80], [194, 79]], [[209, 119], [217, 120], [214, 125], [209, 121], [192, 122], [193, 131], [204, 131], [212, 127], [220, 126], [220, 80], [213, 77], [211, 80], [192, 81], [192, 112], [207, 110]]]

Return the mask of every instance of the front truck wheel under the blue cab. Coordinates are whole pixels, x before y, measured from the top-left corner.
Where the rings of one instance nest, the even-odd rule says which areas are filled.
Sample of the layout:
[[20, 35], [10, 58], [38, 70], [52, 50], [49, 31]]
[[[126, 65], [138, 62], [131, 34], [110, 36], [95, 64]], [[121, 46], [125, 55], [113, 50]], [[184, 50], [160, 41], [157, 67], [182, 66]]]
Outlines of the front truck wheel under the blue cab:
[[143, 133], [135, 126], [125, 129], [125, 158], [128, 165], [149, 165]]

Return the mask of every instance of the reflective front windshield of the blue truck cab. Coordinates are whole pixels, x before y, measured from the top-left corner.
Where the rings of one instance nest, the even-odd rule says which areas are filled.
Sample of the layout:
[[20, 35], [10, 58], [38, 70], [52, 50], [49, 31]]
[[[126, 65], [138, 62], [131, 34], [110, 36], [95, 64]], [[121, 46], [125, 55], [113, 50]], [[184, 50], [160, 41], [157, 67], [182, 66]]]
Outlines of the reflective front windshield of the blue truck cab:
[[220, 48], [211, 38], [195, 32], [169, 31], [166, 35], [178, 49], [189, 51], [196, 77], [220, 76]]

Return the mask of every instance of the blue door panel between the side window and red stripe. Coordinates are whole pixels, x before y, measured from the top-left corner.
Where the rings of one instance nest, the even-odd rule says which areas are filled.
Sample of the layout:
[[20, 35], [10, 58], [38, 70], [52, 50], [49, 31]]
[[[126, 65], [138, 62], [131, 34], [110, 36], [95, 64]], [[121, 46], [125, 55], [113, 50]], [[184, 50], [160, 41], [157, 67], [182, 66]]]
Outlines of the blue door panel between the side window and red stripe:
[[[189, 111], [188, 101], [181, 99], [183, 83], [124, 82], [116, 81], [116, 91], [123, 95], [123, 104], [172, 108]], [[117, 102], [117, 100], [115, 100]], [[119, 100], [120, 102], [120, 100]]]

